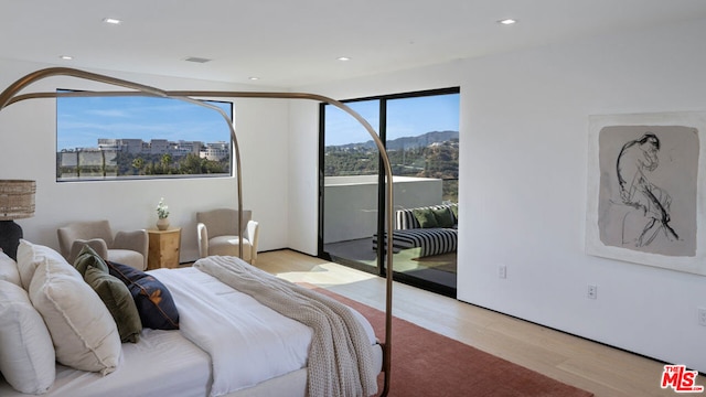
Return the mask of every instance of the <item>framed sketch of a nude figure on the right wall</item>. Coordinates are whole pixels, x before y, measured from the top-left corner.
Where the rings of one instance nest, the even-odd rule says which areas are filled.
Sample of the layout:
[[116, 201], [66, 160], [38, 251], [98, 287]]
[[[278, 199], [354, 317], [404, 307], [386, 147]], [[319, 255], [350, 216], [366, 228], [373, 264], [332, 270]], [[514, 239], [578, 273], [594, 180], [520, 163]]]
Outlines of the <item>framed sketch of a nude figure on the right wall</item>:
[[589, 117], [586, 251], [706, 275], [704, 112]]

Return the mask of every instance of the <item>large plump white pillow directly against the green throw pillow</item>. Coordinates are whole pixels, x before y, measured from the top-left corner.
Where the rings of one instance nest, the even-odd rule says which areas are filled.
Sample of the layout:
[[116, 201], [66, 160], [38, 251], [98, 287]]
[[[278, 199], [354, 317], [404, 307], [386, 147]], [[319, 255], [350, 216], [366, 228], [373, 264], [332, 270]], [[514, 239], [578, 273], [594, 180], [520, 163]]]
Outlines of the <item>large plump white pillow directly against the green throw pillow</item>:
[[66, 260], [44, 257], [30, 283], [30, 300], [52, 335], [56, 361], [72, 368], [107, 375], [122, 346], [110, 312]]

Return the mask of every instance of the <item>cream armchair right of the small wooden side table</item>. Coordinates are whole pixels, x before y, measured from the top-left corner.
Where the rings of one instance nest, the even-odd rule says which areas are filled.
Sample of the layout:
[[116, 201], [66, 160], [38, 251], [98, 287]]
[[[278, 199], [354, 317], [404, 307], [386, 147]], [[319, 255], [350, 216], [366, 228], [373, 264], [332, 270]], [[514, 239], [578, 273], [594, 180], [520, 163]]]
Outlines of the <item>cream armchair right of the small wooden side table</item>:
[[239, 256], [238, 235], [243, 235], [243, 260], [254, 265], [257, 259], [259, 224], [253, 221], [253, 212], [243, 211], [243, 230], [238, 233], [238, 212], [216, 208], [196, 213], [199, 256]]

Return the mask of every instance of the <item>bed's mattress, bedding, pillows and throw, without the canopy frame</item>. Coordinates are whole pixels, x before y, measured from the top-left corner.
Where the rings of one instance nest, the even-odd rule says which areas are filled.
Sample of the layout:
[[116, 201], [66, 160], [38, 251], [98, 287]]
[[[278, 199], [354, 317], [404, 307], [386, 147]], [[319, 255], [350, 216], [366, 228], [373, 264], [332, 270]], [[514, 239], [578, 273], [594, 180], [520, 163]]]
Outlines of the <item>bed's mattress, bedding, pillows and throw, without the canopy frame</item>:
[[[17, 265], [8, 256], [3, 256], [0, 262], [0, 314], [3, 316], [0, 341], [6, 343], [11, 342], [13, 336], [17, 336], [15, 340], [22, 336], [24, 343], [2, 346], [3, 353], [0, 355], [4, 357], [0, 357], [0, 368], [4, 371], [10, 366], [7, 375], [12, 376], [8, 376], [8, 382], [0, 383], [0, 396], [21, 396], [24, 394], [19, 390], [34, 394], [45, 389], [45, 396], [95, 396], [97, 390], [103, 396], [259, 396], [264, 393], [272, 396], [350, 395], [335, 384], [311, 384], [328, 379], [325, 371], [319, 375], [312, 372], [317, 366], [313, 362], [317, 356], [321, 357], [318, 360], [324, 366], [331, 363], [351, 364], [340, 364], [336, 360], [328, 363], [330, 357], [321, 355], [322, 348], [329, 353], [338, 351], [367, 358], [366, 365], [363, 365], [363, 360], [353, 368], [361, 372], [359, 393], [370, 390], [363, 395], [372, 395], [376, 388], [377, 373], [382, 368], [382, 347], [370, 323], [360, 313], [266, 273], [239, 258], [208, 257], [200, 259], [193, 267], [156, 269], [145, 273], [125, 266], [132, 275], [142, 275], [131, 277], [131, 280], [139, 282], [149, 277], [149, 282], [163, 286], [159, 305], [145, 300], [153, 305], [148, 308], [148, 315], [159, 320], [171, 316], [179, 329], [145, 328], [140, 330], [137, 343], [120, 343], [121, 335], [116, 333], [119, 325], [117, 329], [115, 325], [114, 329], [104, 326], [113, 318], [105, 315], [105, 307], [103, 312], [99, 310], [103, 303], [99, 299], [103, 297], [93, 294], [84, 281], [88, 280], [87, 277], [79, 273], [79, 264], [101, 260], [95, 251], [87, 248], [76, 264], [69, 265], [51, 248], [25, 240], [21, 242], [18, 250]], [[19, 278], [8, 276], [12, 275], [12, 266], [17, 267], [14, 273]], [[114, 267], [122, 269], [121, 266], [108, 262], [106, 270], [109, 267], [113, 275]], [[146, 282], [141, 286], [149, 288]], [[26, 310], [32, 309], [28, 308], [28, 300], [19, 299], [22, 292], [11, 299], [13, 297], [8, 293], [11, 288], [17, 291], [24, 288], [28, 291], [26, 296], [43, 322], [28, 321]], [[291, 302], [286, 307], [298, 309], [310, 304], [321, 305], [325, 310], [345, 309], [355, 324], [360, 325], [357, 331], [361, 334], [355, 336], [353, 332], [346, 332], [340, 339], [343, 344], [333, 348], [325, 346], [324, 341], [317, 353], [317, 334], [323, 337], [327, 332], [341, 330], [304, 325], [296, 315], [271, 304], [277, 299], [272, 290], [284, 291], [285, 302]], [[49, 309], [41, 303], [45, 297], [52, 300]], [[165, 303], [168, 299], [173, 301], [173, 310], [169, 307], [171, 303]], [[21, 312], [10, 308], [20, 303], [25, 303]], [[160, 308], [164, 313], [157, 312], [154, 308]], [[18, 312], [21, 314], [17, 315]], [[61, 315], [54, 315], [57, 312]], [[84, 322], [88, 316], [93, 318], [92, 322]], [[13, 319], [21, 322], [19, 326], [23, 329], [20, 332], [8, 330]], [[340, 321], [342, 316], [327, 315], [322, 319], [315, 321]], [[44, 337], [42, 343], [39, 328], [44, 323], [51, 341]], [[62, 330], [64, 323], [71, 323], [72, 330]], [[146, 321], [142, 323], [147, 324]], [[361, 346], [365, 348], [346, 351], [346, 345], [355, 337], [363, 341]], [[72, 339], [81, 339], [81, 346], [71, 346]], [[53, 354], [50, 352], [52, 345]], [[8, 354], [12, 356], [8, 357]], [[82, 354], [84, 356], [79, 356]], [[87, 360], [86, 355], [92, 357]], [[93, 356], [99, 356], [100, 360], [93, 360]], [[21, 360], [25, 357], [29, 360]], [[64, 365], [54, 367], [54, 357]], [[54, 369], [55, 379], [52, 374]], [[347, 376], [349, 379], [353, 377]], [[318, 391], [312, 393], [312, 388], [318, 388]]]

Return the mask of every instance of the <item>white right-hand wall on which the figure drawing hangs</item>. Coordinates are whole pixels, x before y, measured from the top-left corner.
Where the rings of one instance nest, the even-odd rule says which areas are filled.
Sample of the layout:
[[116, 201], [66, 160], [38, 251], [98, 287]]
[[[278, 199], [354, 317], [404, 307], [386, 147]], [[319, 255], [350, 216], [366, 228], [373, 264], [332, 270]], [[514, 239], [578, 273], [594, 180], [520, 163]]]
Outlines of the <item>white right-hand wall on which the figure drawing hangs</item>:
[[[458, 298], [704, 372], [706, 279], [588, 256], [584, 239], [588, 116], [705, 111], [705, 36], [692, 22], [307, 88], [345, 99], [460, 85]], [[298, 149], [315, 158], [313, 142]]]

